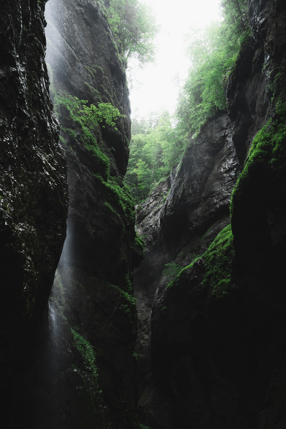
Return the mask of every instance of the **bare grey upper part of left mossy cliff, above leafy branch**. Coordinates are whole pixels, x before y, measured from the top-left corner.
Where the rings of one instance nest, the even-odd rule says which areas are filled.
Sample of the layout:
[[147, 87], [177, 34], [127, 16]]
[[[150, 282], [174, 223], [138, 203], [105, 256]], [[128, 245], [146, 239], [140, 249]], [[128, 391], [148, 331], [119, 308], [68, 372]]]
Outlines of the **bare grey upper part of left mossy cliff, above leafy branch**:
[[101, 129], [117, 169], [125, 174], [130, 140], [126, 64], [102, 9], [93, 0], [49, 0], [45, 18], [46, 61], [52, 69], [55, 91], [90, 103], [111, 103], [126, 115], [117, 121], [118, 130], [108, 126]]

